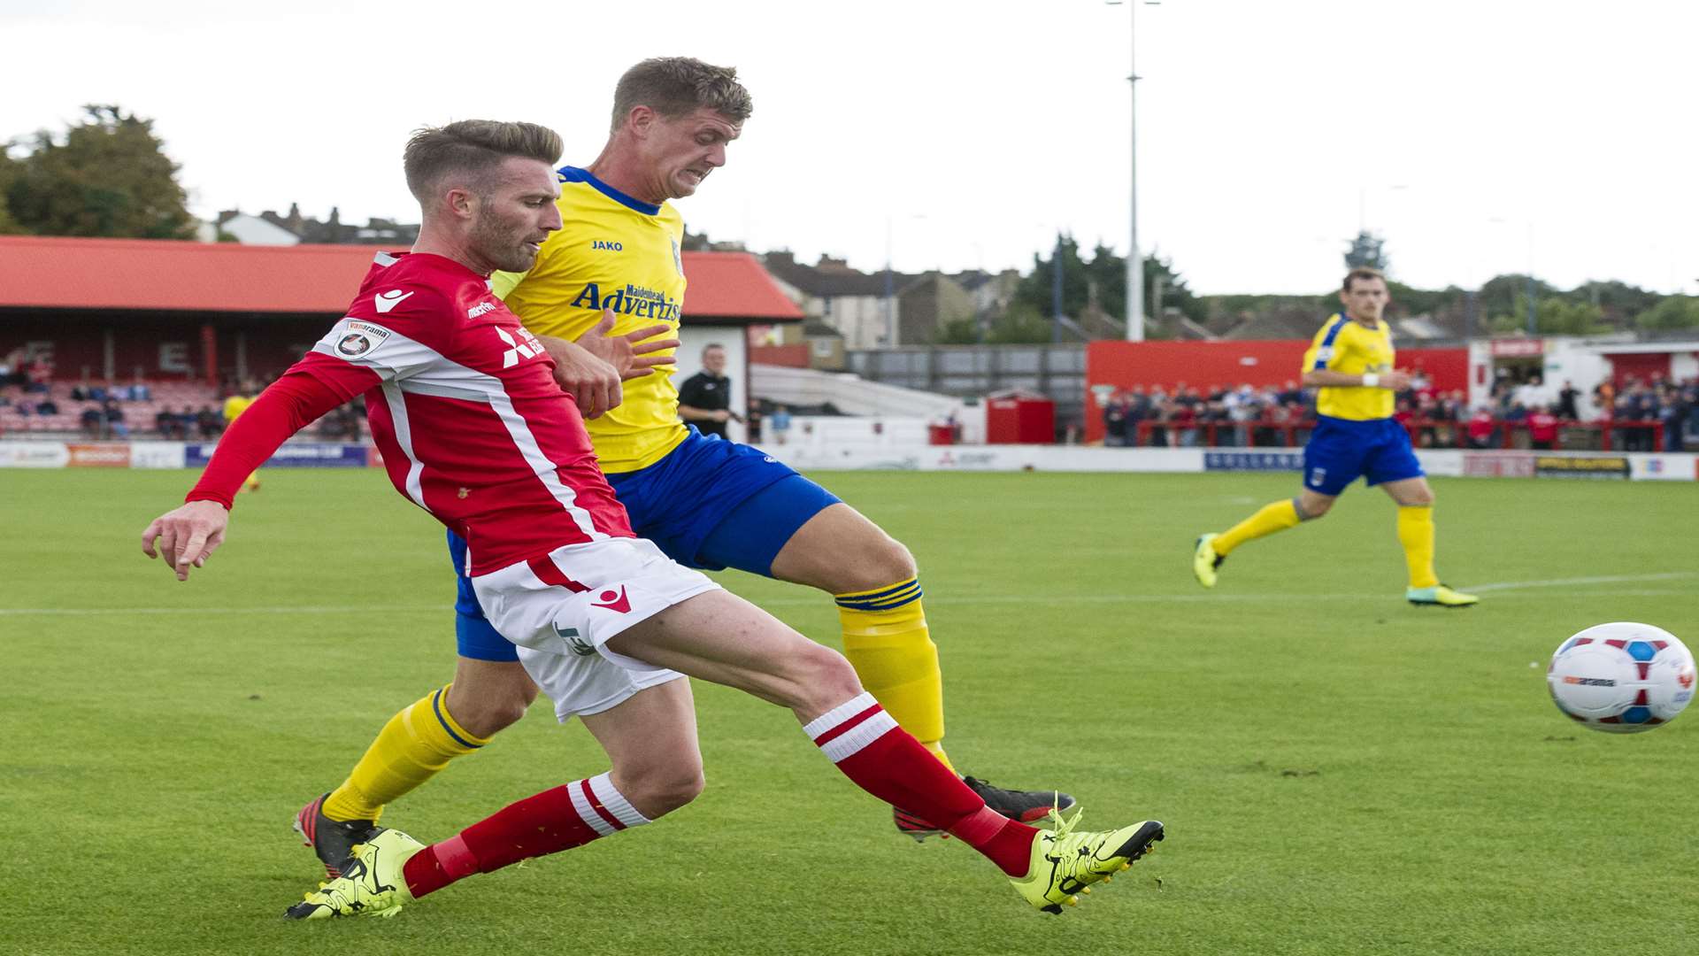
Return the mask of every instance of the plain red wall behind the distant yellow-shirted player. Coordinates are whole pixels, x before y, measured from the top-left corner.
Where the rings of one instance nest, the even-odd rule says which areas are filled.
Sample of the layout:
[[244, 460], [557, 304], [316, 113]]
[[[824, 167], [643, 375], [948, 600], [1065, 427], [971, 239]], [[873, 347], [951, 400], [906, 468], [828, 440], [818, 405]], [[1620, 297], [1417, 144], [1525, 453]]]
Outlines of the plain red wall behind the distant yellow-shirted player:
[[[1307, 339], [1247, 342], [1089, 342], [1086, 345], [1086, 441], [1103, 439], [1103, 407], [1094, 384], [1130, 388], [1179, 383], [1208, 391], [1211, 386], [1284, 386], [1298, 381]], [[1422, 367], [1434, 388], [1470, 386], [1468, 349], [1398, 349], [1398, 367]]]

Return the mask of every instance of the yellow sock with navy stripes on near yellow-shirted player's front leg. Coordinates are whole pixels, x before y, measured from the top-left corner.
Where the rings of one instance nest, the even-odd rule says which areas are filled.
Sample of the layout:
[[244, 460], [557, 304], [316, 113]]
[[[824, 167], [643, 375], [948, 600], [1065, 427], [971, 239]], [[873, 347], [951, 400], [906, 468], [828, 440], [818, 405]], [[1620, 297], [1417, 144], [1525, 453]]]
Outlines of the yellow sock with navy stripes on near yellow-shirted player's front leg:
[[897, 726], [950, 767], [943, 747], [945, 680], [938, 670], [938, 645], [921, 609], [921, 582], [909, 578], [833, 597], [844, 631], [844, 657], [861, 677], [861, 687]]

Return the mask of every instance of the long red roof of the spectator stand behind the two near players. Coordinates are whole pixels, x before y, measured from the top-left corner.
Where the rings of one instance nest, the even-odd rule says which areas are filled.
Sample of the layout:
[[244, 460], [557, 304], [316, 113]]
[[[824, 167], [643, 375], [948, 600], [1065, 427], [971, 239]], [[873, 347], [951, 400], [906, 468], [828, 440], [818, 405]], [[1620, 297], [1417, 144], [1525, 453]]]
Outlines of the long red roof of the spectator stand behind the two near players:
[[[0, 308], [340, 313], [377, 247], [0, 236]], [[748, 252], [686, 252], [685, 318], [795, 322]]]

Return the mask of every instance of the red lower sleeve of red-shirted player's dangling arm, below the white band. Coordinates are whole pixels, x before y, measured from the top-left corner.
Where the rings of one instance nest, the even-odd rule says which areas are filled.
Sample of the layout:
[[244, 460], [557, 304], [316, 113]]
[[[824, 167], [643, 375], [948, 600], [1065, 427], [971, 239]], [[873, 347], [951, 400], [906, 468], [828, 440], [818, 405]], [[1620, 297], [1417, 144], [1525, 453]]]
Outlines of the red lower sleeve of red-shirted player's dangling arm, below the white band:
[[236, 488], [272, 458], [277, 446], [347, 401], [330, 381], [302, 369], [304, 362], [306, 359], [296, 362], [231, 422], [185, 502], [217, 502], [229, 510], [236, 500]]

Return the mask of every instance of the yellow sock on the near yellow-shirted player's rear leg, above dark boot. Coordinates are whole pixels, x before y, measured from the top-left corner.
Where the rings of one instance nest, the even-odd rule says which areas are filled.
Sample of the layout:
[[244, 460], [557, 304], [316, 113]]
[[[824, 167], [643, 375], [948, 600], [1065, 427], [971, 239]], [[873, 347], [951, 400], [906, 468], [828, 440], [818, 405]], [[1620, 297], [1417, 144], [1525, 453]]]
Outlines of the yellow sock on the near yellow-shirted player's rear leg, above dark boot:
[[331, 820], [377, 820], [384, 805], [437, 776], [449, 760], [489, 743], [449, 716], [449, 686], [389, 718], [348, 779], [325, 798]]

